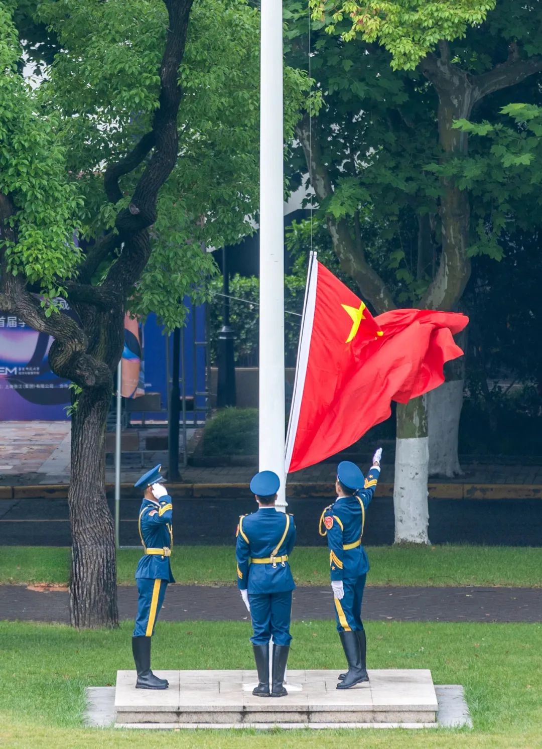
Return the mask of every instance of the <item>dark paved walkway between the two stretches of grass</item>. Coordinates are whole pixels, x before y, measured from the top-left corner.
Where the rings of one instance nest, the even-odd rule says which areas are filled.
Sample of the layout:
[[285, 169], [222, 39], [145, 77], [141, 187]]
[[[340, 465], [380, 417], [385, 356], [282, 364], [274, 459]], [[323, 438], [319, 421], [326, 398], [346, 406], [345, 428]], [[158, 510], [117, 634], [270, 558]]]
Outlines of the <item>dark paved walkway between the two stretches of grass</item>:
[[[333, 618], [329, 587], [299, 587], [293, 595], [293, 619]], [[118, 606], [121, 619], [133, 619], [135, 587], [118, 589]], [[68, 593], [0, 586], [0, 612], [3, 619], [69, 622]], [[383, 622], [541, 622], [542, 589], [368, 587], [363, 618]], [[171, 585], [160, 619], [224, 622], [248, 620], [248, 615], [237, 588]]]

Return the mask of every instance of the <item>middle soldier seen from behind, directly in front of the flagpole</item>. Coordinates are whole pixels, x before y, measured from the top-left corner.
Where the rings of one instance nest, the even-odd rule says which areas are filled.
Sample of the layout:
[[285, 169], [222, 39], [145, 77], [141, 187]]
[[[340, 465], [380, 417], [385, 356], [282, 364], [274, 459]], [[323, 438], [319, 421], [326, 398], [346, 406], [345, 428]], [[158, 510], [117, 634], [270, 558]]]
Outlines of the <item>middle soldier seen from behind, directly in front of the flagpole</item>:
[[[290, 650], [292, 591], [295, 588], [288, 557], [296, 541], [293, 515], [277, 512], [280, 479], [270, 470], [250, 482], [258, 512], [242, 515], [237, 526], [237, 584], [252, 617], [250, 638], [258, 668], [256, 697], [284, 697], [284, 672]], [[270, 691], [270, 640], [272, 688]]]

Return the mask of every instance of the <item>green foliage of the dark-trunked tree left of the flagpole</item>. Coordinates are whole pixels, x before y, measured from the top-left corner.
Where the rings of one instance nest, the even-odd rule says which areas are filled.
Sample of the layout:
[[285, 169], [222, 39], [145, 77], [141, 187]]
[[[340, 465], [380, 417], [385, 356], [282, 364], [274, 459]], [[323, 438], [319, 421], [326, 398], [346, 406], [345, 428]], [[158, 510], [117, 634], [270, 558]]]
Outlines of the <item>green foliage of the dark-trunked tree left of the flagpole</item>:
[[[306, 7], [305, 7], [306, 11]], [[28, 8], [28, 13], [31, 9]], [[42, 0], [32, 12], [60, 45], [46, 79], [32, 89], [16, 73], [16, 28], [0, 6], [0, 190], [13, 196], [16, 241], [10, 270], [40, 285], [46, 314], [82, 260], [73, 237], [100, 237], [115, 226], [145, 168], [121, 178], [123, 198], [106, 198], [103, 174], [150, 129], [158, 106], [167, 34], [155, 0]], [[216, 273], [205, 247], [237, 243], [258, 211], [259, 23], [245, 0], [196, 0], [179, 79], [177, 166], [159, 193], [153, 254], [130, 309], [156, 312], [168, 329], [183, 324], [183, 299], [207, 298]], [[299, 109], [317, 112], [301, 70], [284, 70], [284, 133]], [[103, 282], [111, 261], [100, 266]]]

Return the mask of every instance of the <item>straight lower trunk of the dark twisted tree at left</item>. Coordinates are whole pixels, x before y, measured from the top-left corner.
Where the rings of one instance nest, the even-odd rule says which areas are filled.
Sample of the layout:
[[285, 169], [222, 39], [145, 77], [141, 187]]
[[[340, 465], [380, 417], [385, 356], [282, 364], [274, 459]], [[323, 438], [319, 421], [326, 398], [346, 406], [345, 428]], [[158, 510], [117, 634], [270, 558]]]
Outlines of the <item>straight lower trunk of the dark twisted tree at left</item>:
[[116, 627], [115, 527], [106, 501], [106, 418], [112, 391], [85, 389], [72, 419], [70, 620], [74, 627]]

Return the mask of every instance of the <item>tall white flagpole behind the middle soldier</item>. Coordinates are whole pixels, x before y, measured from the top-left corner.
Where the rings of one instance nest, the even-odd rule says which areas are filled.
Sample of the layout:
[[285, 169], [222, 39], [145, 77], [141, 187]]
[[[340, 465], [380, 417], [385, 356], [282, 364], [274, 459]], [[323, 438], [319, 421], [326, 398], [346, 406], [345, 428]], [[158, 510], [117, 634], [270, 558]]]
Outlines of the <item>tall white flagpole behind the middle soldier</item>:
[[261, 0], [260, 60], [259, 464], [260, 470], [275, 471], [281, 479], [276, 507], [286, 512], [282, 3], [278, 0]]

